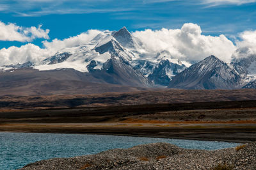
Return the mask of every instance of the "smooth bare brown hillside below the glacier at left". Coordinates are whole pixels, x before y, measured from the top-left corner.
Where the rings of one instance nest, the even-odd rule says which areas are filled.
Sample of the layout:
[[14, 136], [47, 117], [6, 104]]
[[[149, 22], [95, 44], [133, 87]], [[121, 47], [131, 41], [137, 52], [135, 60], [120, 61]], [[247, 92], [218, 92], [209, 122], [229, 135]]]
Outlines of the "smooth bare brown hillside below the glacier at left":
[[96, 79], [90, 73], [71, 68], [45, 71], [20, 68], [0, 73], [1, 96], [77, 95], [141, 89], [143, 88], [109, 84], [104, 80]]

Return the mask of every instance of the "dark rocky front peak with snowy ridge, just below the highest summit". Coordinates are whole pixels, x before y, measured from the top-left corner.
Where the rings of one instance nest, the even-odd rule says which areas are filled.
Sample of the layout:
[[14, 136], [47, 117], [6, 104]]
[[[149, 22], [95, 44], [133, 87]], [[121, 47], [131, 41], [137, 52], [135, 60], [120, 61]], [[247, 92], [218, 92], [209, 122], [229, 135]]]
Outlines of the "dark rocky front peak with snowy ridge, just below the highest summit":
[[98, 61], [91, 60], [87, 67], [88, 71], [99, 79], [111, 84], [125, 84], [129, 86], [152, 86], [147, 77], [133, 68], [132, 56], [134, 54], [122, 47], [115, 38], [108, 38], [96, 45], [95, 49], [99, 54], [110, 54], [111, 57], [103, 63], [101, 68], [96, 68]]

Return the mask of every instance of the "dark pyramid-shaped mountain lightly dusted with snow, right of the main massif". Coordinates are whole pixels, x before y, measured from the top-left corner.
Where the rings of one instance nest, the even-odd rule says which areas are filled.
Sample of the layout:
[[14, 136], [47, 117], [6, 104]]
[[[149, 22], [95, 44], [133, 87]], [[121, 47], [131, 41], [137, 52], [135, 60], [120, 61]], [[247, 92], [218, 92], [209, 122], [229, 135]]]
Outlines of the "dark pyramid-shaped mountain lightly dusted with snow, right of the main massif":
[[234, 89], [240, 88], [243, 78], [230, 66], [209, 56], [173, 77], [169, 88]]

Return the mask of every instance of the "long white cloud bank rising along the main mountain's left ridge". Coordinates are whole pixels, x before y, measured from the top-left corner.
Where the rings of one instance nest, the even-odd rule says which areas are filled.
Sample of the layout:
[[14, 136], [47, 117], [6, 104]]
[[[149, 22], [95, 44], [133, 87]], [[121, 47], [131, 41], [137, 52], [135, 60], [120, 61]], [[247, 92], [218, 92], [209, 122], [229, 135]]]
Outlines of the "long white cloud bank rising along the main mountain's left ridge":
[[[77, 47], [83, 45], [86, 42], [92, 40], [101, 31], [90, 30], [86, 33], [81, 33], [77, 36], [72, 36], [64, 40], [54, 39], [52, 42], [44, 41], [44, 48], [40, 48], [33, 43], [28, 43], [22, 45], [21, 47], [9, 47], [8, 49], [3, 48], [0, 50], [0, 66], [2, 65], [12, 65], [17, 63], [25, 63], [27, 61], [39, 62], [45, 58], [49, 58], [56, 54], [58, 50], [68, 47]], [[34, 34], [35, 35], [35, 34]], [[40, 32], [38, 32], [38, 36]]]

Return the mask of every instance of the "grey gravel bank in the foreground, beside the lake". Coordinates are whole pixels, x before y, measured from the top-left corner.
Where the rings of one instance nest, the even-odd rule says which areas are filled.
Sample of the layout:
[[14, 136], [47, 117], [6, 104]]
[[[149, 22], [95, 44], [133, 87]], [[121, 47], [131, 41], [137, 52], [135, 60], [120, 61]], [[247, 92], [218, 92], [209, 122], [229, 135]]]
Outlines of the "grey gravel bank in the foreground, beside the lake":
[[[77, 148], [79, 149], [79, 148]], [[224, 150], [188, 150], [173, 144], [142, 144], [95, 155], [52, 158], [22, 169], [256, 169], [256, 142]]]

